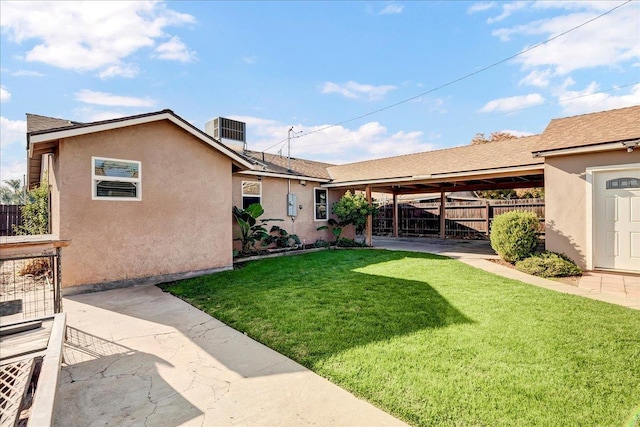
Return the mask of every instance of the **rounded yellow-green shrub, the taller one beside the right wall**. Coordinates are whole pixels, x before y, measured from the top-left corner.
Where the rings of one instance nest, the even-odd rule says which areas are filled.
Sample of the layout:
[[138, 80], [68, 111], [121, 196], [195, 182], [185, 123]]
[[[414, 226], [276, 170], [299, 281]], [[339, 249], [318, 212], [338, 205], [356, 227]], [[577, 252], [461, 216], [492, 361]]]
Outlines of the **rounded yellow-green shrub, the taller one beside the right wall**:
[[538, 247], [538, 216], [530, 211], [498, 215], [491, 226], [491, 247], [507, 262], [533, 254]]

